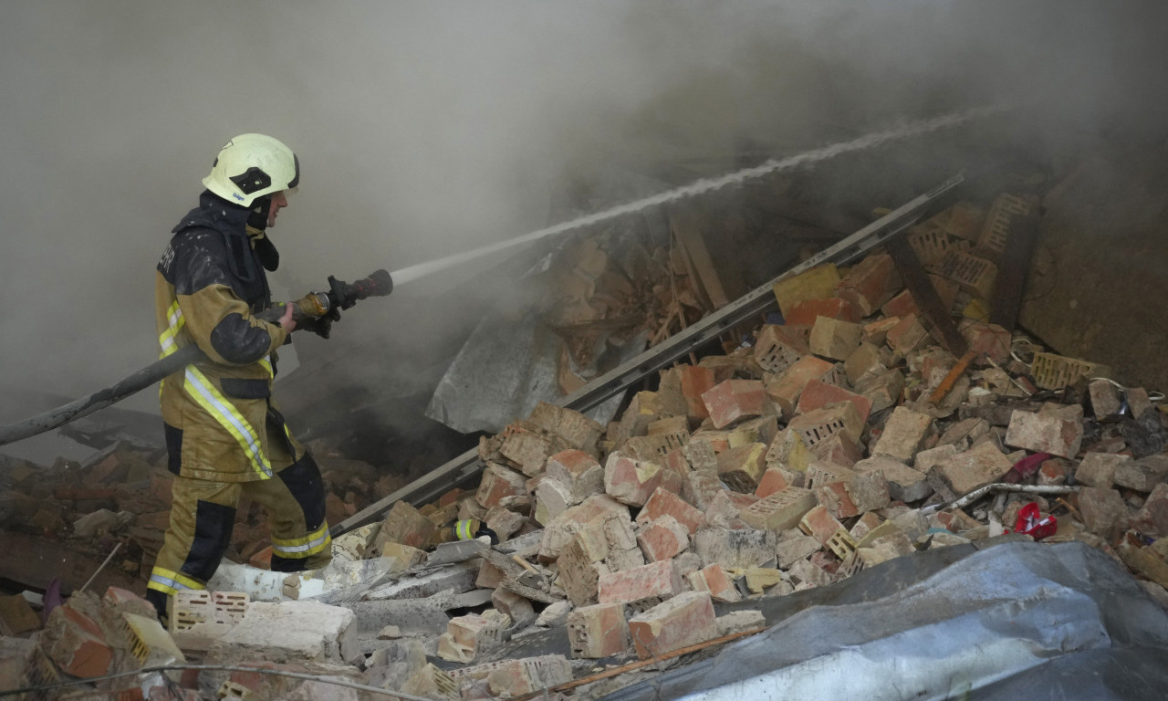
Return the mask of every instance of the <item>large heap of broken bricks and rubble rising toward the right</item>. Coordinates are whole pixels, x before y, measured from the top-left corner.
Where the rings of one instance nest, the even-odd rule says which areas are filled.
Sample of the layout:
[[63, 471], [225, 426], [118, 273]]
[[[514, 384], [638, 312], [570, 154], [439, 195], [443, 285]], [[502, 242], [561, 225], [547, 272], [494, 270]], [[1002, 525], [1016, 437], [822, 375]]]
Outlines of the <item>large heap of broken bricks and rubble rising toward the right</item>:
[[[985, 320], [995, 211], [1010, 204], [962, 203], [909, 232], [960, 318], [965, 362], [885, 252], [783, 279], [784, 324], [662, 370], [609, 425], [541, 403], [482, 438], [477, 488], [395, 504], [338, 537], [325, 574], [232, 579], [269, 575], [274, 592], [183, 592], [169, 619], [181, 652], [151, 654], [320, 678], [204, 671], [207, 699], [376, 697], [329, 679], [431, 699], [595, 697], [639, 662], [660, 669], [774, 623], [752, 599], [1020, 539], [1083, 541], [1168, 605], [1164, 412], [1107, 368]], [[468, 519], [500, 543], [458, 540]], [[105, 623], [153, 622], [130, 599], [75, 595], [33, 640], [0, 640], [22, 655], [0, 685], [132, 664], [121, 652], [137, 647]]]

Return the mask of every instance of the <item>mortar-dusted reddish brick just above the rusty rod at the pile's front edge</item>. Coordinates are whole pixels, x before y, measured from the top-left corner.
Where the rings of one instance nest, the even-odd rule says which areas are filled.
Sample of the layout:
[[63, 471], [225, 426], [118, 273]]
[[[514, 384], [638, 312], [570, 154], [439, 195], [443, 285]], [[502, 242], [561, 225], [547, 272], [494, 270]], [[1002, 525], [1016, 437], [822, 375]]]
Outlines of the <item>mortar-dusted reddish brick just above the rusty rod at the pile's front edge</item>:
[[704, 591], [687, 591], [628, 620], [637, 655], [649, 659], [718, 637], [714, 602]]

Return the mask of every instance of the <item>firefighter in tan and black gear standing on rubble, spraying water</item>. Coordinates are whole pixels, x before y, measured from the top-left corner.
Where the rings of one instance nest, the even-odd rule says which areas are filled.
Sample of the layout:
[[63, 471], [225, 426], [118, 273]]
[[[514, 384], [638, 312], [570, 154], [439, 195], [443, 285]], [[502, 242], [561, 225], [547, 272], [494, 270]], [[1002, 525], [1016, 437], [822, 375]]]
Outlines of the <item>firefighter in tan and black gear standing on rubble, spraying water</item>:
[[[146, 596], [164, 617], [174, 594], [203, 589], [215, 574], [242, 497], [267, 511], [273, 570], [317, 569], [332, 558], [320, 470], [272, 400], [276, 350], [297, 326], [292, 305], [276, 324], [255, 317], [272, 304], [266, 271], [279, 264], [266, 231], [299, 180], [299, 160], [280, 141], [231, 139], [158, 263], [162, 356], [188, 343], [207, 354], [166, 377], [160, 394], [175, 477]], [[312, 331], [327, 335], [327, 327]]]

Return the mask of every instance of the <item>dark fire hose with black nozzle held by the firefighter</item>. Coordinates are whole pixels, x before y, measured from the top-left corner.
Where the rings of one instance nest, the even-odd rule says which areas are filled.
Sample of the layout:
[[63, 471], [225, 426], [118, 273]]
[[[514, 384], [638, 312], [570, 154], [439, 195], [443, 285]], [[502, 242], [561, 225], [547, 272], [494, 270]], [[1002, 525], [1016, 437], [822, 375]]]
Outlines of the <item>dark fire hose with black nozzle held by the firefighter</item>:
[[[369, 277], [354, 283], [346, 283], [338, 280], [333, 276], [328, 276], [327, 292], [310, 292], [300, 299], [290, 303], [293, 305], [292, 319], [297, 322], [314, 319], [335, 320], [340, 318], [341, 310], [352, 307], [359, 300], [369, 297], [385, 297], [392, 291], [394, 279], [384, 270], [378, 270]], [[284, 311], [285, 306], [280, 304], [264, 310], [256, 314], [256, 317], [274, 322], [284, 315]], [[207, 354], [197, 345], [190, 343], [183, 346], [175, 353], [146, 366], [112, 387], [39, 414], [27, 421], [0, 426], [0, 445], [7, 445], [46, 431], [51, 431], [71, 421], [89, 416], [95, 411], [105, 409], [132, 394], [146, 389], [193, 362], [204, 359], [207, 359]]]

